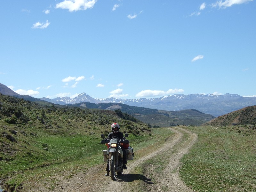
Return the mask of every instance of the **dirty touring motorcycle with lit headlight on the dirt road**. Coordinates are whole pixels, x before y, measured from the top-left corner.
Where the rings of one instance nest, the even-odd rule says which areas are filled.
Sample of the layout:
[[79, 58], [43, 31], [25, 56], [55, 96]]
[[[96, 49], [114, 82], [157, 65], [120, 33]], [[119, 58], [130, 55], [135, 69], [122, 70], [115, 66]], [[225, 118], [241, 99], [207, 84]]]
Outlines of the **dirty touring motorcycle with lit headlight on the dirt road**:
[[[105, 145], [108, 146], [108, 150], [103, 150], [103, 154], [105, 152], [104, 161], [109, 163], [109, 172], [111, 173], [111, 179], [116, 179], [117, 175], [123, 174], [123, 150], [121, 148], [122, 145], [128, 144], [129, 140], [119, 140], [117, 137], [113, 137], [110, 140], [105, 139], [104, 134], [100, 134], [101, 138], [104, 138], [101, 141], [101, 144], [106, 143]], [[128, 137], [129, 134], [125, 133], [124, 137]]]

